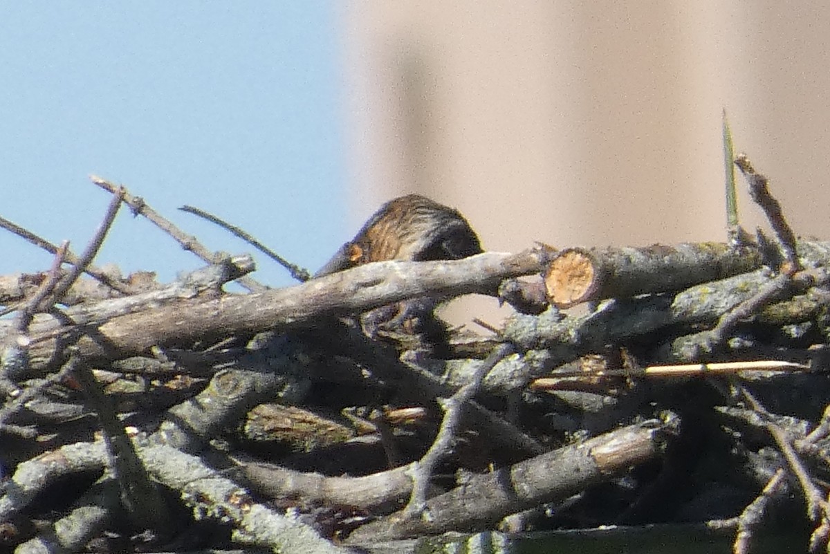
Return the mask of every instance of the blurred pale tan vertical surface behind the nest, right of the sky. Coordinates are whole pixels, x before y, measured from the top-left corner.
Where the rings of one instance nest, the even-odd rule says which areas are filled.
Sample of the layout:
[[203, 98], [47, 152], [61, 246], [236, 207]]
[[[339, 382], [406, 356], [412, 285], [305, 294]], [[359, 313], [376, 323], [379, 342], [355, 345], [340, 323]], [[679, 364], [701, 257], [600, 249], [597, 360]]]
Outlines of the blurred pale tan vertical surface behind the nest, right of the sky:
[[422, 192], [488, 250], [720, 241], [725, 108], [797, 232], [830, 236], [830, 3], [352, 0], [342, 23], [355, 230]]

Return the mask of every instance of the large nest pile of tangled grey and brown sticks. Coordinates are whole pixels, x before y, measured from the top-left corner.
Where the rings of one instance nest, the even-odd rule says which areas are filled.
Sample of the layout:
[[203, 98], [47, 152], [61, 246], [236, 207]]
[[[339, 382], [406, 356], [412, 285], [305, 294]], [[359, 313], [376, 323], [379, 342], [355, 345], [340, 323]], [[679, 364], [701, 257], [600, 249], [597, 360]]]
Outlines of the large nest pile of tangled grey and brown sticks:
[[[0, 221], [54, 255], [0, 277], [0, 540], [371, 552], [448, 531], [696, 521], [749, 552], [777, 504], [826, 547], [830, 243], [797, 241], [766, 179], [736, 163], [775, 241], [537, 245], [317, 279], [287, 265], [302, 282], [284, 289], [99, 177], [112, 202], [81, 255]], [[95, 267], [123, 204], [207, 265], [170, 284]], [[453, 329], [445, 357], [359, 324], [472, 293], [515, 313]]]

